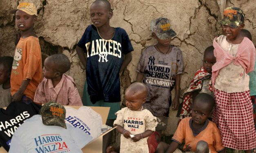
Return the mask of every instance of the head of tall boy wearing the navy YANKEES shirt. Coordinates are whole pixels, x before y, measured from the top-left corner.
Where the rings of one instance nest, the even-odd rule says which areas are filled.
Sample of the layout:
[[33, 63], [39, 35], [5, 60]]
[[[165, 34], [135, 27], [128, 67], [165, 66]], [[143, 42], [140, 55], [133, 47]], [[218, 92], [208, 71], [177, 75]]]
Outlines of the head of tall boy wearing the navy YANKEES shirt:
[[95, 0], [91, 4], [90, 16], [91, 22], [97, 28], [109, 25], [109, 20], [113, 15], [111, 4], [107, 0]]

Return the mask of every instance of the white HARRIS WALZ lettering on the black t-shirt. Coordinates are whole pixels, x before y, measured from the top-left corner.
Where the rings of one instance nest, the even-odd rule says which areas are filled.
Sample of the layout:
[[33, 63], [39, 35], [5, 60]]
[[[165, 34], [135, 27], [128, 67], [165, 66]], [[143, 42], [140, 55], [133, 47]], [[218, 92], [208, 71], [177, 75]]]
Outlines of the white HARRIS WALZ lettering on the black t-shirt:
[[[20, 126], [20, 121], [29, 118], [30, 114], [27, 111], [23, 111], [20, 115], [8, 121], [0, 122], [0, 131], [4, 130], [4, 133], [11, 137], [16, 129]], [[18, 125], [16, 125], [18, 124]], [[15, 126], [14, 126], [15, 125]], [[9, 128], [10, 127], [10, 128]]]

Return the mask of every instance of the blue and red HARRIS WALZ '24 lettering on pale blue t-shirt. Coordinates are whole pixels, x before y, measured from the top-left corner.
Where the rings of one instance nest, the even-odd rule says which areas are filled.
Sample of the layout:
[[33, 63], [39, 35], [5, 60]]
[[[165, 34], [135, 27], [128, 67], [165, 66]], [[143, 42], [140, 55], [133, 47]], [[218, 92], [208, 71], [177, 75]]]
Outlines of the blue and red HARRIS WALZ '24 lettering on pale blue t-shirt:
[[37, 153], [65, 153], [69, 152], [66, 142], [62, 141], [60, 134], [45, 134], [34, 138]]

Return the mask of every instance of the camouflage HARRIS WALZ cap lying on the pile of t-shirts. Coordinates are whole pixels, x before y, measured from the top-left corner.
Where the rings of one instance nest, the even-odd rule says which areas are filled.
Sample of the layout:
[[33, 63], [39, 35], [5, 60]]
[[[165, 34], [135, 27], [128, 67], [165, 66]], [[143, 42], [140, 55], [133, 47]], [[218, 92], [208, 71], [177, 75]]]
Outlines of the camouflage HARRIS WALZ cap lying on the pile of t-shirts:
[[55, 125], [67, 129], [66, 109], [61, 104], [51, 101], [42, 106], [39, 111], [44, 125]]

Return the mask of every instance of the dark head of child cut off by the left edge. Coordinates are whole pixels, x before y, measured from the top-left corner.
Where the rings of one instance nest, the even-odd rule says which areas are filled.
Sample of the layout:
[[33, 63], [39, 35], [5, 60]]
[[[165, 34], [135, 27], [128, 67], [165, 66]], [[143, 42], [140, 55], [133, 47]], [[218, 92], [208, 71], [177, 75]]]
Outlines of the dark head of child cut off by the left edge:
[[0, 85], [10, 80], [12, 63], [13, 57], [0, 57]]

